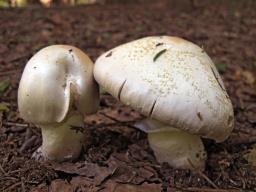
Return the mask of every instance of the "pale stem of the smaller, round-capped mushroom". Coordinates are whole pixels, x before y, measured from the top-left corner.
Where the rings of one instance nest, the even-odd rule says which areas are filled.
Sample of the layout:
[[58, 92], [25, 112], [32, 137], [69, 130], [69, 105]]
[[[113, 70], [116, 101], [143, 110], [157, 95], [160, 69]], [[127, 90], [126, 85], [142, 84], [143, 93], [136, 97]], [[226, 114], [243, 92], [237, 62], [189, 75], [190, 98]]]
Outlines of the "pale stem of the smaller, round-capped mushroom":
[[84, 135], [74, 127], [82, 126], [83, 117], [77, 113], [69, 115], [61, 123], [40, 125], [43, 138], [43, 156], [46, 159], [59, 162], [78, 158]]

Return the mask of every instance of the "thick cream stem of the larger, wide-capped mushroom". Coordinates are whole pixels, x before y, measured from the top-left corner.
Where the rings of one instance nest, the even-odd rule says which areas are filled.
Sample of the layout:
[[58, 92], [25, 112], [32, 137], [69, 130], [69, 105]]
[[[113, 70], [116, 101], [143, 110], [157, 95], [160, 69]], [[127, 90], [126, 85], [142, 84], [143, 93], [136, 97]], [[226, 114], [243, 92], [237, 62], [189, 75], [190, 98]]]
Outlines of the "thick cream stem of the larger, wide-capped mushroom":
[[172, 127], [169, 129], [148, 134], [158, 162], [168, 162], [174, 168], [203, 170], [207, 155], [201, 138]]

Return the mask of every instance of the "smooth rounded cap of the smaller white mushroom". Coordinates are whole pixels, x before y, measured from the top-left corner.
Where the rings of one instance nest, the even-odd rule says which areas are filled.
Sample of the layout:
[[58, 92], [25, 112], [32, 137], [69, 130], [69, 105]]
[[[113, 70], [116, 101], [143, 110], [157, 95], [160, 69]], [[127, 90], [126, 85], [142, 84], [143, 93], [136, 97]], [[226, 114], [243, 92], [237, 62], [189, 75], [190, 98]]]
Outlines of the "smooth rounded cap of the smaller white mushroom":
[[62, 122], [69, 109], [94, 113], [99, 104], [93, 62], [80, 49], [53, 45], [27, 63], [18, 90], [21, 116], [35, 124]]

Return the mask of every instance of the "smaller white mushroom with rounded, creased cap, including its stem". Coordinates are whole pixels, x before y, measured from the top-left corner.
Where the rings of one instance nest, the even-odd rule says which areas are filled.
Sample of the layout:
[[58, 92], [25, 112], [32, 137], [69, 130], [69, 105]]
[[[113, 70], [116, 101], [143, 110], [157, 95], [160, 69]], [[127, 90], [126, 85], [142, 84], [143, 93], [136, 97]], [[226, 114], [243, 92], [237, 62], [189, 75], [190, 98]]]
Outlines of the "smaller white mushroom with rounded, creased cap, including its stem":
[[99, 89], [93, 62], [80, 49], [52, 45], [26, 64], [18, 89], [20, 116], [42, 130], [43, 158], [76, 159], [84, 135], [83, 117], [97, 111]]

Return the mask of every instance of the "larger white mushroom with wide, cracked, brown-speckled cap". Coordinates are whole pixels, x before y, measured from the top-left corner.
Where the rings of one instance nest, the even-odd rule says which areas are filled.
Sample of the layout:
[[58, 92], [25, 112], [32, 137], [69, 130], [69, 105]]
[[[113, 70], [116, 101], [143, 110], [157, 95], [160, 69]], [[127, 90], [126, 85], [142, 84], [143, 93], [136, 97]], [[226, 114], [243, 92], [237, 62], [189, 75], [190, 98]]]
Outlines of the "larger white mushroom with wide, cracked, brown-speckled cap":
[[148, 133], [159, 162], [204, 169], [201, 137], [222, 142], [230, 135], [233, 107], [210, 57], [178, 37], [145, 37], [101, 55], [95, 80], [147, 119], [136, 126]]

